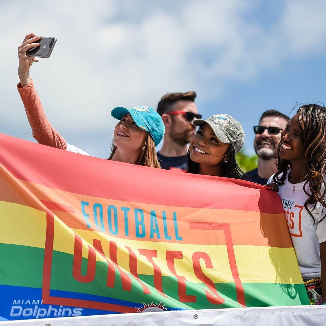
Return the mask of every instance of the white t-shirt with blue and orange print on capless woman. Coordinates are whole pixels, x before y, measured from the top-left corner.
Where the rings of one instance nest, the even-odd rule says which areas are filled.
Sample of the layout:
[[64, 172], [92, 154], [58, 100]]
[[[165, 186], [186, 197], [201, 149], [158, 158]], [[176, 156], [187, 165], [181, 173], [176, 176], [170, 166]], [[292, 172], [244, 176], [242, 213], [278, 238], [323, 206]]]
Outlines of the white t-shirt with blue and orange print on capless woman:
[[[268, 183], [273, 181], [273, 177], [274, 175], [270, 177]], [[320, 278], [319, 244], [326, 241], [326, 217], [321, 222], [319, 221], [326, 214], [326, 210], [322, 214], [322, 205], [317, 203], [316, 208], [311, 211], [314, 205], [308, 205], [316, 221], [314, 224], [304, 207], [304, 203], [308, 198], [304, 193], [305, 182], [295, 184], [293, 192], [293, 184], [289, 182], [288, 177], [289, 171], [285, 184], [278, 186], [278, 195], [282, 200], [302, 278], [304, 280]], [[305, 186], [305, 189], [309, 192], [309, 183]]]

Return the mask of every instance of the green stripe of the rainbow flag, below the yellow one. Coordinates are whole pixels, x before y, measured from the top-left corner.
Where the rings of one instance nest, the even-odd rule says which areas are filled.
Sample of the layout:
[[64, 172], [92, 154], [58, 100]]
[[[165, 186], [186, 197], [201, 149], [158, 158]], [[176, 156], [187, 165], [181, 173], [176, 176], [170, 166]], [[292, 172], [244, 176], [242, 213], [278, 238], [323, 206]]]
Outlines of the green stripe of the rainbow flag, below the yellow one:
[[[42, 287], [44, 249], [0, 244], [0, 283], [25, 287]], [[201, 283], [186, 282], [187, 294], [196, 295], [195, 303], [178, 302], [178, 284], [175, 277], [163, 276], [162, 285], [168, 297], [162, 296], [154, 288], [153, 275], [139, 275], [141, 280], [150, 288], [151, 294], [144, 294], [142, 286], [132, 277], [132, 291], [122, 289], [118, 271], [115, 273], [115, 288], [106, 286], [107, 263], [96, 262], [95, 279], [90, 283], [81, 283], [72, 275], [73, 255], [53, 251], [51, 289], [94, 294], [131, 302], [150, 304], [166, 304], [168, 307], [183, 309], [210, 309], [223, 307], [239, 307], [236, 302], [234, 283], [216, 283], [219, 295], [225, 299], [224, 304], [211, 304], [204, 290], [207, 287]], [[82, 259], [82, 274], [86, 274], [87, 259]], [[275, 305], [309, 304], [303, 284], [280, 283], [243, 283], [245, 303], [248, 307]]]

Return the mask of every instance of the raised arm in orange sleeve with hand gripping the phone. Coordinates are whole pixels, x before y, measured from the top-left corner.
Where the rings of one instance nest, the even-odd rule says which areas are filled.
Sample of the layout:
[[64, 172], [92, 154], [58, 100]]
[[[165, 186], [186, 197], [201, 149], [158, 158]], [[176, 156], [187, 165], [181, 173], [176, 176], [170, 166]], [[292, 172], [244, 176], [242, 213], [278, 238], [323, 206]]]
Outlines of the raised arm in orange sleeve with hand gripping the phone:
[[22, 98], [27, 119], [33, 131], [33, 137], [37, 142], [67, 150], [67, 141], [48, 121], [31, 78], [30, 67], [33, 62], [38, 62], [38, 60], [27, 56], [26, 51], [38, 46], [37, 40], [39, 38], [36, 34], [28, 34], [18, 47], [18, 76], [20, 83], [17, 85], [17, 89]]

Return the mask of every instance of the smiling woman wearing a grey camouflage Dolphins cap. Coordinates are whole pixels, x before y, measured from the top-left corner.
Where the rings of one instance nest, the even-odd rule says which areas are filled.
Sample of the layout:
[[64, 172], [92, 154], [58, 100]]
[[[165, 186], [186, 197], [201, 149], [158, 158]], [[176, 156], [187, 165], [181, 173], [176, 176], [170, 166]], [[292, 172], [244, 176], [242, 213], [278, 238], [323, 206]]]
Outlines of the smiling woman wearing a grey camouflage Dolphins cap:
[[244, 144], [240, 122], [229, 114], [215, 114], [193, 124], [199, 129], [190, 141], [187, 172], [242, 179], [243, 171], [235, 160]]

